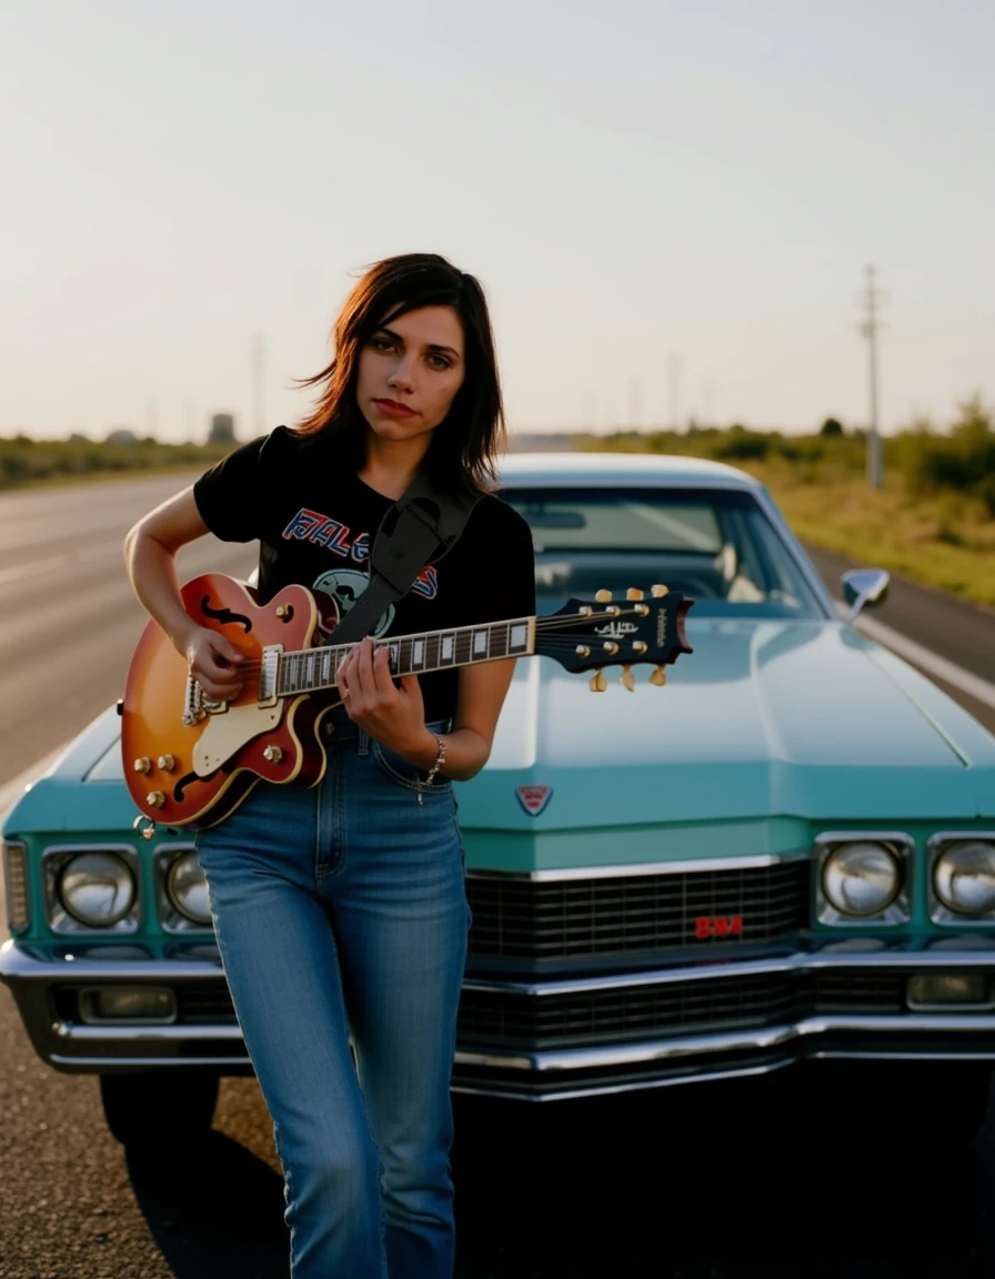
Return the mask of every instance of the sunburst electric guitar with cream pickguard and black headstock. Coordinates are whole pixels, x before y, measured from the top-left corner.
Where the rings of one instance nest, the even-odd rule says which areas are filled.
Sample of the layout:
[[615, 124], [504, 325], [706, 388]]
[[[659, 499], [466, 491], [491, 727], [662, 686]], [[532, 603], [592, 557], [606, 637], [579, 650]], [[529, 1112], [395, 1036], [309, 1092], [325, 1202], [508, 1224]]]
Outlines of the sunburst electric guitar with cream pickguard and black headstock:
[[[183, 605], [198, 625], [230, 640], [244, 655], [242, 692], [212, 702], [187, 671], [157, 623], [150, 622], [128, 669], [121, 703], [124, 776], [139, 808], [136, 829], [151, 838], [155, 824], [214, 826], [233, 812], [262, 778], [312, 787], [325, 773], [322, 716], [340, 706], [335, 679], [352, 645], [334, 640], [336, 601], [322, 604], [307, 587], [288, 586], [267, 604], [246, 582], [221, 573], [193, 578]], [[482, 625], [388, 636], [394, 675], [444, 670], [503, 657], [542, 655], [570, 671], [595, 671], [591, 688], [604, 692], [601, 668], [622, 666], [632, 691], [632, 665], [650, 663], [654, 684], [664, 666], [691, 652], [684, 618], [693, 600], [652, 587], [650, 599], [629, 590], [610, 604], [569, 600], [547, 616], [514, 618]], [[151, 822], [142, 828], [142, 822]]]

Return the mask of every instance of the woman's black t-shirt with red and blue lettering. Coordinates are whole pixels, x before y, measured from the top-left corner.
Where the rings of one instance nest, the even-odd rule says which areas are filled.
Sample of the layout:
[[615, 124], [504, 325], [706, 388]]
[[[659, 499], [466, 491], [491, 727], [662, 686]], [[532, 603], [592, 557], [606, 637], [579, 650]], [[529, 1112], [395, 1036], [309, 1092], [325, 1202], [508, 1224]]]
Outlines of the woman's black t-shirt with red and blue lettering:
[[[261, 597], [290, 583], [334, 596], [344, 615], [368, 583], [370, 545], [390, 498], [343, 469], [321, 436], [284, 426], [243, 444], [193, 486], [201, 518], [226, 542], [260, 540]], [[482, 498], [455, 546], [390, 605], [371, 634], [422, 634], [536, 611], [532, 533]], [[455, 712], [458, 670], [419, 675], [428, 723]]]

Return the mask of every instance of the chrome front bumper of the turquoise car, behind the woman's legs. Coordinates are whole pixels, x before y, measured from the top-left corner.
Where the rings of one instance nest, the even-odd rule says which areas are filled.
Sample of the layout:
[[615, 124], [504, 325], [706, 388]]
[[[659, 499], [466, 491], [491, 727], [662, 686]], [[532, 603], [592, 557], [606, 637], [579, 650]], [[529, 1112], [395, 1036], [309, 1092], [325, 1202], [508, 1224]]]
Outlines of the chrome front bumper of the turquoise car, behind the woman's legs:
[[[917, 948], [918, 946], [918, 948]], [[100, 958], [86, 946], [0, 946], [0, 981], [10, 986], [36, 1051], [60, 1071], [113, 1072], [150, 1067], [215, 1067], [221, 1073], [251, 1069], [238, 1024], [231, 1017], [176, 1021], [170, 1024], [83, 1024], [59, 1016], [58, 991], [87, 986], [155, 985], [200, 989], [220, 1003], [226, 985], [216, 950], [206, 944], [184, 957], [114, 958], [113, 946]], [[196, 958], [193, 952], [196, 952]], [[211, 954], [211, 952], [214, 952]], [[205, 957], [207, 955], [207, 957]], [[633, 993], [693, 991], [707, 984], [738, 978], [793, 982], [830, 973], [845, 982], [891, 973], [904, 980], [917, 973], [983, 973], [995, 994], [995, 943], [977, 935], [944, 938], [941, 943], [882, 943], [835, 939], [821, 948], [748, 961], [710, 961], [615, 976], [542, 981], [468, 977], [464, 1007], [474, 999], [498, 998], [519, 1013], [533, 1001], [597, 995], [609, 1007], [614, 996]], [[702, 986], [701, 984], [706, 984]], [[995, 1008], [971, 1012], [911, 1010], [893, 1014], [839, 1010], [787, 1019], [758, 1019], [737, 1027], [698, 1026], [692, 1033], [615, 1037], [582, 1046], [522, 1048], [485, 1044], [471, 1027], [457, 1042], [453, 1087], [460, 1092], [545, 1101], [705, 1079], [762, 1074], [802, 1059], [976, 1060], [995, 1064]]]

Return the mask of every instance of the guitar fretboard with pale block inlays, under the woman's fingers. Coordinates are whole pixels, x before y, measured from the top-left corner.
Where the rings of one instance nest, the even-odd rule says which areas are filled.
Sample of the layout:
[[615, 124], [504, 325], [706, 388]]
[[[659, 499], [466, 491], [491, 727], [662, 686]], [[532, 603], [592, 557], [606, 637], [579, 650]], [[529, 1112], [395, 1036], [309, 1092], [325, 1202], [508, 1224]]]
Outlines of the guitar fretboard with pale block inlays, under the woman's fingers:
[[[419, 636], [398, 636], [376, 641], [375, 647], [390, 652], [393, 675], [416, 675], [449, 666], [471, 666], [481, 661], [501, 657], [524, 657], [533, 651], [535, 618], [515, 618], [510, 622], [490, 622], [478, 627], [459, 627], [455, 631], [430, 631]], [[275, 687], [261, 689], [278, 697], [290, 693], [313, 693], [334, 688], [338, 683], [339, 664], [345, 660], [353, 645], [329, 645], [325, 648], [304, 648], [284, 652], [276, 669], [263, 661], [263, 683], [275, 677]]]

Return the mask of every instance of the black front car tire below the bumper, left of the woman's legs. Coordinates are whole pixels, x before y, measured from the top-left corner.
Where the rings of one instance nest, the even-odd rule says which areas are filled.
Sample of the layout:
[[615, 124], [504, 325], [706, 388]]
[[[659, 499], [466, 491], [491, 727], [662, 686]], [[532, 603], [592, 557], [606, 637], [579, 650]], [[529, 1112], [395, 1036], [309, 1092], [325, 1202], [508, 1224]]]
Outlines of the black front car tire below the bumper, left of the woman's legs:
[[217, 1102], [216, 1074], [150, 1071], [101, 1074], [100, 1099], [114, 1137], [129, 1149], [202, 1141]]

